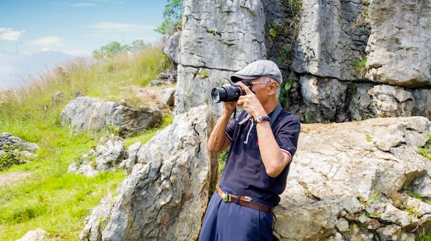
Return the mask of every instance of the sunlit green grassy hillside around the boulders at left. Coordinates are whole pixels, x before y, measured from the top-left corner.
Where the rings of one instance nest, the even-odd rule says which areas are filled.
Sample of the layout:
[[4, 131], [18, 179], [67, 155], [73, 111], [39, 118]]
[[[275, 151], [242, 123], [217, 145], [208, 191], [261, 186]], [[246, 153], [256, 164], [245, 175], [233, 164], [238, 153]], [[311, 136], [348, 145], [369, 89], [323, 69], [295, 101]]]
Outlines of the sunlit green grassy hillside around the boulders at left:
[[[11, 133], [41, 146], [38, 157], [30, 163], [0, 170], [0, 175], [28, 174], [13, 185], [0, 186], [0, 240], [17, 240], [39, 228], [48, 232], [48, 240], [78, 240], [85, 217], [103, 196], [115, 196], [124, 172], [92, 178], [67, 174], [70, 163], [109, 133], [78, 132], [62, 126], [61, 111], [77, 95], [138, 107], [151, 101], [151, 97], [142, 95], [142, 89], [151, 89], [147, 87], [149, 82], [169, 65], [160, 46], [150, 46], [93, 62], [76, 58], [32, 78], [26, 86], [0, 92], [0, 133]], [[53, 102], [52, 95], [57, 91], [63, 92], [64, 98]], [[126, 148], [136, 141], [145, 143], [158, 129], [170, 124], [169, 108], [162, 113], [162, 126], [126, 138]], [[1, 161], [6, 160], [0, 157]]]

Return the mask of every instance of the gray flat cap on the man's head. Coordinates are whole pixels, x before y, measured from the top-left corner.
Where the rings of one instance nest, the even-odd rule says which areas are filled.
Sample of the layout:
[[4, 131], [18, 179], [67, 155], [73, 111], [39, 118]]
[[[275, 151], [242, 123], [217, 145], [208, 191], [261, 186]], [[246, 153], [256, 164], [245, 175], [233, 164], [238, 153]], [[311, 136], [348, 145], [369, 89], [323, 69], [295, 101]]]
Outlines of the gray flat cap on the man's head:
[[244, 69], [235, 72], [231, 76], [233, 82], [240, 80], [254, 80], [262, 76], [273, 78], [278, 84], [282, 84], [283, 77], [280, 69], [271, 60], [256, 60], [249, 63]]

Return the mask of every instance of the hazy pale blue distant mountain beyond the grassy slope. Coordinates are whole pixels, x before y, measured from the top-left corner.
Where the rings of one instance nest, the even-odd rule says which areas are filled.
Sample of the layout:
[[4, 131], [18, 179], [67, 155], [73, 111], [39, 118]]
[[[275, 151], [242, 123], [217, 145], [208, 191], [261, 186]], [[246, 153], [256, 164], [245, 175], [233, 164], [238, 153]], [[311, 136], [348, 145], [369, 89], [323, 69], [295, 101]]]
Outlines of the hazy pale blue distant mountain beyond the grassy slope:
[[0, 53], [0, 91], [25, 84], [29, 76], [39, 76], [76, 56], [59, 51], [41, 51], [31, 56]]

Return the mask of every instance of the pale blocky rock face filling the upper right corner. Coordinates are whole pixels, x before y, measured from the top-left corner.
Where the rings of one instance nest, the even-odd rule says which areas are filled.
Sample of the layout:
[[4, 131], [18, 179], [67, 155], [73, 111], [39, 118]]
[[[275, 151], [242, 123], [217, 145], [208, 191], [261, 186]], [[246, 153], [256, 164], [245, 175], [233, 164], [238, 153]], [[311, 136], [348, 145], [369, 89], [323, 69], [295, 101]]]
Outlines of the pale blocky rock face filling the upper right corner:
[[367, 77], [410, 89], [431, 87], [431, 2], [372, 0], [368, 12]]

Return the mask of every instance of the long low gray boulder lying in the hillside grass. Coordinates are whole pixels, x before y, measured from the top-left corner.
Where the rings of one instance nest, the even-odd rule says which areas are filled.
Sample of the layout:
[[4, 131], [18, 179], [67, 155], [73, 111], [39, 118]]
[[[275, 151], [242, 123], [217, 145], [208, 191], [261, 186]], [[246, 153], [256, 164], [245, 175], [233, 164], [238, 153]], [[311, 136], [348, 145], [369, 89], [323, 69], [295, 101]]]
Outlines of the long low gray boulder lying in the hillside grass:
[[92, 97], [77, 97], [61, 112], [63, 124], [73, 128], [118, 130], [126, 137], [138, 130], [146, 130], [161, 122], [161, 112], [156, 106], [143, 106], [140, 110], [117, 102], [103, 102]]

